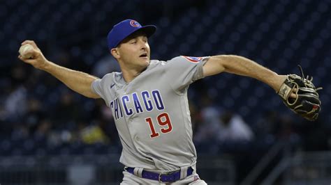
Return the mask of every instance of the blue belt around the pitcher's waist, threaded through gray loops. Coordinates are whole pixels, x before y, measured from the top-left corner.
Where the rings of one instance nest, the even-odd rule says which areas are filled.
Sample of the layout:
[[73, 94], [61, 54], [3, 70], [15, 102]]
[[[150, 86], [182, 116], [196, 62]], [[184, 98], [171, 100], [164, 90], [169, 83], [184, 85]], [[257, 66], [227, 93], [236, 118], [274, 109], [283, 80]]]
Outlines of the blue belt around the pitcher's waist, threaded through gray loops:
[[[127, 172], [135, 175], [133, 172], [135, 168], [127, 167], [125, 169]], [[192, 173], [193, 173], [193, 168], [189, 167], [187, 169], [186, 176], [192, 175]], [[176, 182], [177, 180], [180, 179], [180, 170], [175, 172], [168, 172], [168, 173], [149, 172], [146, 170], [142, 170], [142, 178], [156, 180], [159, 182]]]

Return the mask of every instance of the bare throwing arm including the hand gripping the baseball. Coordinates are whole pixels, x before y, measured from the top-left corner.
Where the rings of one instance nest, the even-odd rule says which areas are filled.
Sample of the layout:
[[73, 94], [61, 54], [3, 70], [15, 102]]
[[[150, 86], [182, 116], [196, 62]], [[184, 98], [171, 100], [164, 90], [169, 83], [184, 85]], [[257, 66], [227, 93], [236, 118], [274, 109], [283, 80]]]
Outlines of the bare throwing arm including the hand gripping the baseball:
[[29, 63], [36, 67], [39, 70], [44, 70], [52, 74], [54, 77], [62, 81], [68, 88], [74, 90], [85, 97], [91, 98], [100, 98], [99, 95], [96, 95], [91, 90], [91, 83], [98, 79], [97, 77], [91, 76], [90, 74], [79, 72], [75, 70], [70, 70], [66, 67], [61, 67], [57, 64], [52, 63], [51, 61], [47, 61], [41, 49], [39, 49], [36, 43], [32, 40], [26, 40], [22, 42], [22, 45], [30, 44], [34, 47], [31, 51], [27, 51], [32, 54], [31, 58], [23, 58], [22, 56], [18, 56], [20, 60], [24, 61], [24, 63]]

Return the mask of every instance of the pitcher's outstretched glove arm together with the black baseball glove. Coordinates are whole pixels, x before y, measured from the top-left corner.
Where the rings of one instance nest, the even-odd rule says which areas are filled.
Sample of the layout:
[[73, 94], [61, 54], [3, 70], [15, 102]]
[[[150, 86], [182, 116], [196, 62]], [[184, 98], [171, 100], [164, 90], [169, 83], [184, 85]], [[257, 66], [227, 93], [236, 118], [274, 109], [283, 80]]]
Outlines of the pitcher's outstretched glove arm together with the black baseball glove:
[[279, 94], [288, 108], [303, 118], [314, 121], [321, 111], [321, 100], [317, 93], [321, 88], [315, 87], [312, 77], [304, 78], [302, 68], [300, 65], [299, 67], [302, 77], [296, 74], [279, 75], [242, 56], [220, 55], [209, 58], [203, 65], [203, 74], [207, 77], [230, 72], [263, 81]]

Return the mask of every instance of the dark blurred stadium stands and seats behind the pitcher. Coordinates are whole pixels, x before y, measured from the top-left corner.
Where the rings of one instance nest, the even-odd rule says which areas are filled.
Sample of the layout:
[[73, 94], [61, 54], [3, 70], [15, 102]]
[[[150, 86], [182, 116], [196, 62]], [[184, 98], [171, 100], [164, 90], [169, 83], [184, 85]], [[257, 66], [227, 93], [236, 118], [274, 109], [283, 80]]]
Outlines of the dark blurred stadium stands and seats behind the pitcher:
[[331, 183], [331, 1], [0, 1], [0, 184], [119, 184], [121, 146], [102, 100], [17, 59], [35, 40], [59, 65], [119, 70], [106, 35], [122, 19], [156, 24], [152, 59], [237, 54], [280, 74], [297, 64], [323, 86], [307, 122], [253, 79], [221, 74], [189, 90], [198, 172], [209, 184]]

